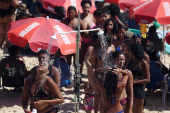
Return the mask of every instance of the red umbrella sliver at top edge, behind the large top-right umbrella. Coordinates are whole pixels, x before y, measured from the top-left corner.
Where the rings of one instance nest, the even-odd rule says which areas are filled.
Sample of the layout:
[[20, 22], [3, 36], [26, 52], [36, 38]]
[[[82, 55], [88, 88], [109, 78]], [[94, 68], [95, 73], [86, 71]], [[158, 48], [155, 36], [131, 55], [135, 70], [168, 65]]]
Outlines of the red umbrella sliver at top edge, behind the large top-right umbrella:
[[120, 9], [126, 12], [129, 12], [130, 7], [135, 6], [145, 1], [148, 1], [148, 0], [120, 0], [119, 7]]

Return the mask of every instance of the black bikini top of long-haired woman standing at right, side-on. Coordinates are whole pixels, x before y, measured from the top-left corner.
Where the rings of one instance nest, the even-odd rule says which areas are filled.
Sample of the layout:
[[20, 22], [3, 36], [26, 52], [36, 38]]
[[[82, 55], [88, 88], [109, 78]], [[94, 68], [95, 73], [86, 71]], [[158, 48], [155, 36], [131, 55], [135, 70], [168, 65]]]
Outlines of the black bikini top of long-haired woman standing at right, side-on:
[[[129, 65], [127, 66], [127, 69], [129, 69], [130, 68], [130, 65], [133, 63], [133, 60], [129, 63]], [[139, 63], [140, 64], [140, 63]], [[133, 71], [132, 71], [132, 74], [133, 74], [133, 76], [143, 76], [143, 73], [142, 73], [142, 71], [141, 71], [141, 69], [140, 69], [140, 67], [139, 67], [139, 64], [138, 64], [138, 66], [136, 67], [136, 69], [134, 69]]]

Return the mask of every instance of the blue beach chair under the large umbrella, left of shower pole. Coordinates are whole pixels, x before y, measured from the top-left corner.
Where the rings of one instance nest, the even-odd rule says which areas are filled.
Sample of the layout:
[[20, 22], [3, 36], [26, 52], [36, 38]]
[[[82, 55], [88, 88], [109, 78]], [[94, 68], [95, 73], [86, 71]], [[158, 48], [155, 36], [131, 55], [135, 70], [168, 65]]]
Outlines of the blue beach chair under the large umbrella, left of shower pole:
[[60, 87], [65, 87], [71, 84], [70, 68], [65, 57], [55, 57], [53, 59], [53, 66], [57, 67], [61, 75]]

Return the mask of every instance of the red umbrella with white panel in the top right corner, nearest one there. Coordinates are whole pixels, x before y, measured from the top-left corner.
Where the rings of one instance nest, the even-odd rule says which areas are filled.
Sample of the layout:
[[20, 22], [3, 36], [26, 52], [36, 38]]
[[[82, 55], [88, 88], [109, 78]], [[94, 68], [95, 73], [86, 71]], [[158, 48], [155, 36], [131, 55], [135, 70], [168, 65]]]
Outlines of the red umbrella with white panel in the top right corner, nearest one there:
[[148, 0], [130, 8], [130, 17], [138, 23], [149, 24], [156, 19], [160, 24], [170, 24], [170, 0]]

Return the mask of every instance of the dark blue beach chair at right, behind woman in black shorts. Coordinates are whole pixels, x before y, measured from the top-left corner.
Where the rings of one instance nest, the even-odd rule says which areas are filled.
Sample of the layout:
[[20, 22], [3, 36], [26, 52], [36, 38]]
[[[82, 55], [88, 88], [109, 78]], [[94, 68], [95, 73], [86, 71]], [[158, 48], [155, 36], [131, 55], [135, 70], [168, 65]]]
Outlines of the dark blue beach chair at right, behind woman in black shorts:
[[[157, 67], [158, 65], [158, 67]], [[150, 61], [150, 83], [146, 84], [147, 89], [157, 89], [157, 83], [163, 81], [162, 65], [158, 61]]]

